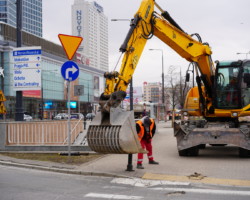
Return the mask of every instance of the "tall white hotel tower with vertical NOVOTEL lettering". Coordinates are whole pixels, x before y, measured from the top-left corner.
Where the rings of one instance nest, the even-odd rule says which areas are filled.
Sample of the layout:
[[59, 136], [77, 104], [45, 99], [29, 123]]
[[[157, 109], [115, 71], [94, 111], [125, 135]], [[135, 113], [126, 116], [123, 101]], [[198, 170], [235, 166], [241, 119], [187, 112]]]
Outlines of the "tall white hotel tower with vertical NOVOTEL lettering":
[[77, 52], [78, 61], [108, 71], [108, 18], [102, 6], [75, 0], [72, 5], [72, 34], [83, 37]]

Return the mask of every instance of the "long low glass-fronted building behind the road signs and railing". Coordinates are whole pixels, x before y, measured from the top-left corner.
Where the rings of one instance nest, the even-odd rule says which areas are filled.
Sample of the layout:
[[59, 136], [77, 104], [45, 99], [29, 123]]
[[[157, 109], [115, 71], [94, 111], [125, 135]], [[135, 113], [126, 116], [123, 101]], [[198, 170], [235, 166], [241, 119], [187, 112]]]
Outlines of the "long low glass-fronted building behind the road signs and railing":
[[[23, 110], [39, 118], [43, 108], [44, 118], [67, 112], [68, 90], [61, 75], [61, 67], [68, 61], [62, 46], [23, 32], [23, 47], [41, 46], [42, 49], [42, 89], [39, 91], [23, 91]], [[4, 103], [7, 119], [15, 116], [16, 92], [13, 90], [13, 49], [16, 48], [16, 29], [4, 23], [0, 23], [0, 66], [4, 76], [0, 76], [0, 89], [4, 92], [7, 101]], [[74, 61], [75, 59], [73, 59]], [[76, 61], [76, 60], [75, 60]], [[75, 107], [71, 108], [73, 113], [95, 112], [98, 109], [98, 101], [104, 89], [104, 71], [78, 64], [80, 69], [77, 80], [71, 82], [71, 102]], [[84, 93], [75, 96], [75, 85], [83, 85]]]

